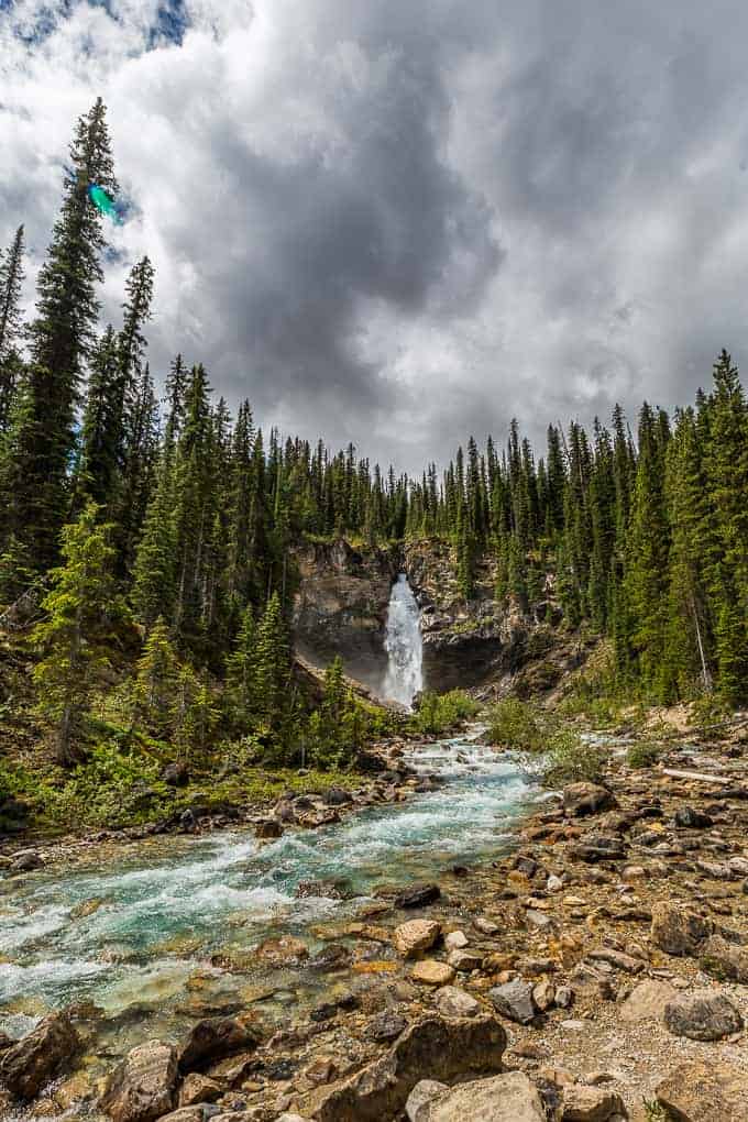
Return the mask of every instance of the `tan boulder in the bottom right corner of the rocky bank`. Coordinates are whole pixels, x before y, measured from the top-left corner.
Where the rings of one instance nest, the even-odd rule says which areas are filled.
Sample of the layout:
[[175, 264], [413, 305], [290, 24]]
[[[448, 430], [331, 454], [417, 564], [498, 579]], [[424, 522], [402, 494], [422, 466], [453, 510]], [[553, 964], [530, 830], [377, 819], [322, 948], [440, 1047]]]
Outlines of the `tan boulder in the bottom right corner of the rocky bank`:
[[748, 1122], [748, 1075], [730, 1064], [682, 1064], [656, 1094], [676, 1122]]

